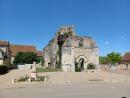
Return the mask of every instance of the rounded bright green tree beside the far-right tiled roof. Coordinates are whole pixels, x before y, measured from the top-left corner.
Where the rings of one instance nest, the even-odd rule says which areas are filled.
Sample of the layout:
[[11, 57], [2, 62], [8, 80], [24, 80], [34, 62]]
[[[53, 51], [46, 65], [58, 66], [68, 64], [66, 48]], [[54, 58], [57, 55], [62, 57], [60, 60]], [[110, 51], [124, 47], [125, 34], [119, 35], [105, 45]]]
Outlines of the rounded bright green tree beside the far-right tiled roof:
[[119, 61], [121, 60], [120, 53], [112, 52], [112, 53], [107, 54], [107, 57], [108, 57], [109, 63], [111, 63], [113, 65], [119, 63]]

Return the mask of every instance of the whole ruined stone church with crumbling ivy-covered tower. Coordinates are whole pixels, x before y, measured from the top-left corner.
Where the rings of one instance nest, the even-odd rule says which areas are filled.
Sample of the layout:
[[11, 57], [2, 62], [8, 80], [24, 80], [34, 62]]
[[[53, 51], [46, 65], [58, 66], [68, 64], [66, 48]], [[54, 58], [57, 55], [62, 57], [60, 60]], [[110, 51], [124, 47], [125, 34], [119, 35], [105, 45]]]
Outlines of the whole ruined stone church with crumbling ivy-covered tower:
[[56, 36], [43, 49], [44, 65], [75, 71], [76, 66], [86, 70], [88, 64], [99, 64], [96, 42], [87, 36], [77, 36], [73, 26], [60, 27]]

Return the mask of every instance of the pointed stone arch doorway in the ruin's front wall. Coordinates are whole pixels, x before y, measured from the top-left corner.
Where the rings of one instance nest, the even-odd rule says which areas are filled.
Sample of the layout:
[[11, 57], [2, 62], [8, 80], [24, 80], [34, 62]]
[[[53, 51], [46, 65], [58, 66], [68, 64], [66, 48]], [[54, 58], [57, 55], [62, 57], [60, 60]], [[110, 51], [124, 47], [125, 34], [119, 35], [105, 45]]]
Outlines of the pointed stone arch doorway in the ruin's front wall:
[[84, 55], [80, 55], [77, 57], [76, 60], [77, 65], [75, 66], [77, 66], [79, 69], [81, 69], [81, 71], [83, 71], [87, 69], [87, 62], [88, 62], [87, 58]]

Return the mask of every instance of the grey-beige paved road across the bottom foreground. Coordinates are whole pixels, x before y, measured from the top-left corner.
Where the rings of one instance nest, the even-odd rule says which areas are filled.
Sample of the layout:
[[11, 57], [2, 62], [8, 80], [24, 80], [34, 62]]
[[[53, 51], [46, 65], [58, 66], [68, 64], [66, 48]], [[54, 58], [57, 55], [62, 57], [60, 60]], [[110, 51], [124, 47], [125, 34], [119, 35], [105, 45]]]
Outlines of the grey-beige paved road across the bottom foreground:
[[0, 98], [130, 98], [130, 84], [38, 85], [0, 89]]

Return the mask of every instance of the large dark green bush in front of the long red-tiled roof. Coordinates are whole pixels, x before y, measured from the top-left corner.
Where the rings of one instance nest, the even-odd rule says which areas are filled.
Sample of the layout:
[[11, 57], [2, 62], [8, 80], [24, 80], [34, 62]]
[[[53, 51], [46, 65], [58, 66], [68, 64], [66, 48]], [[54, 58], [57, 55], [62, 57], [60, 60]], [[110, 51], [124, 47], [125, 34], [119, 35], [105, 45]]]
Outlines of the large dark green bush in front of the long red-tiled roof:
[[34, 61], [37, 61], [37, 54], [33, 52], [18, 52], [15, 59], [14, 65], [17, 64], [31, 64]]

